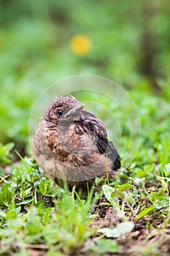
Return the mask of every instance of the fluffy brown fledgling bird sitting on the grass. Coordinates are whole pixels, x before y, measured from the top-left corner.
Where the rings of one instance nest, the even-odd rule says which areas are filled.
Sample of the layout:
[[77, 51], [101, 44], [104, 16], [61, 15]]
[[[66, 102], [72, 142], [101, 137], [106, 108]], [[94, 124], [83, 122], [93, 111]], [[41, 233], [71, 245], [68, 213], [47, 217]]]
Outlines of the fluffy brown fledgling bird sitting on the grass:
[[107, 139], [104, 123], [72, 97], [59, 97], [45, 110], [35, 129], [36, 162], [57, 184], [86, 190], [96, 177], [112, 181], [120, 157]]

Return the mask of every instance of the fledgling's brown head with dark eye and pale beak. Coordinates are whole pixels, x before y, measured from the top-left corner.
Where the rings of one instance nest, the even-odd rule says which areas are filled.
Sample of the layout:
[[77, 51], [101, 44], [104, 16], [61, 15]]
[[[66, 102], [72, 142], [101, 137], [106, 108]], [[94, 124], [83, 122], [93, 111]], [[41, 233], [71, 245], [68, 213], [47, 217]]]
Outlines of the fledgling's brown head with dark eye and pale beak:
[[45, 110], [45, 120], [53, 124], [72, 123], [80, 116], [84, 104], [72, 97], [59, 97]]

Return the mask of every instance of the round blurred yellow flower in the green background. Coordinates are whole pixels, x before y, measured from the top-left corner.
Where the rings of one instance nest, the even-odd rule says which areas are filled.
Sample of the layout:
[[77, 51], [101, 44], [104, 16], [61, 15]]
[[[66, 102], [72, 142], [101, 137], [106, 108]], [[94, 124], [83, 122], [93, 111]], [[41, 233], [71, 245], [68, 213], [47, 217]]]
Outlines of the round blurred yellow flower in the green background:
[[72, 51], [78, 55], [85, 55], [91, 49], [92, 42], [89, 37], [84, 34], [77, 34], [70, 40]]

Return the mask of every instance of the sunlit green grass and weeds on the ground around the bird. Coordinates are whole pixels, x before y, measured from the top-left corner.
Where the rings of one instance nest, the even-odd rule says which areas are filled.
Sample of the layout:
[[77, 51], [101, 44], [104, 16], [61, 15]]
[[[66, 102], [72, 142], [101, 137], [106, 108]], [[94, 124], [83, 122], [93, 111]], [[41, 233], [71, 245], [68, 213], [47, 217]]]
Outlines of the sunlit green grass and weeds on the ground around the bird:
[[[141, 94], [140, 99], [136, 95], [132, 91], [142, 123], [139, 151], [131, 165], [123, 164], [112, 184], [106, 181], [98, 187], [100, 181], [96, 179], [95, 197], [93, 191], [85, 200], [74, 189], [69, 192], [67, 187], [56, 188], [32, 157], [21, 157], [11, 164], [14, 143], [1, 144], [1, 255], [33, 255], [34, 251], [39, 255], [166, 255], [170, 218], [169, 103], [165, 97], [151, 97], [149, 92], [147, 97]], [[124, 136], [126, 146], [128, 134]], [[106, 222], [112, 207], [123, 227], [114, 215], [109, 224]]]

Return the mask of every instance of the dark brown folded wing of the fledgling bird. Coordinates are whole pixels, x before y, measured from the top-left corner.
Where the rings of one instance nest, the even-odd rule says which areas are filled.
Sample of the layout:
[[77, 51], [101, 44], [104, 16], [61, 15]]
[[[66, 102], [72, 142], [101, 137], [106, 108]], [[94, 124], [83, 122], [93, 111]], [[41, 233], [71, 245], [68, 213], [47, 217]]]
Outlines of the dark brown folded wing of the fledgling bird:
[[113, 143], [107, 139], [107, 132], [104, 123], [93, 115], [93, 113], [85, 111], [80, 125], [85, 132], [90, 132], [90, 135], [93, 136], [98, 152], [100, 154], [106, 154], [107, 157], [112, 160], [113, 169], [119, 169], [121, 166], [120, 156], [117, 153], [116, 148], [113, 146]]

